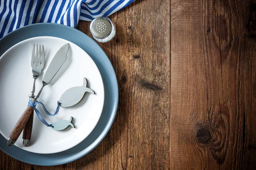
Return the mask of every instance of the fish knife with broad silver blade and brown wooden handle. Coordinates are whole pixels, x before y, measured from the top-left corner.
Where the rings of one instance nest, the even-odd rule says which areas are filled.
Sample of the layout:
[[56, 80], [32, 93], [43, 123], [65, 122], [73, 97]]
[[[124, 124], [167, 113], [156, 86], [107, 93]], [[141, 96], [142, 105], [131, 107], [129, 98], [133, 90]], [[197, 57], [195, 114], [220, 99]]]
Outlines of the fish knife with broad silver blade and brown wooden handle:
[[[51, 82], [53, 77], [57, 74], [57, 72], [59, 71], [61, 66], [64, 64], [64, 62], [67, 59], [68, 50], [69, 50], [69, 44], [67, 43], [67, 44], [63, 45], [58, 50], [58, 52], [55, 54], [55, 56], [53, 57], [49, 67], [47, 68], [46, 73], [44, 74], [44, 79], [43, 79], [42, 86], [41, 86], [40, 90], [35, 95], [35, 97], [33, 99], [31, 99], [32, 102], [37, 101], [37, 99], [39, 98], [39, 96], [40, 96], [40, 94], [41, 94], [41, 92], [44, 88], [44, 86], [48, 85], [49, 82]], [[8, 146], [12, 146], [13, 144], [15, 144], [16, 140], [20, 136], [20, 133], [22, 132], [26, 123], [28, 122], [29, 117], [30, 117], [33, 110], [34, 110], [34, 108], [32, 108], [31, 106], [28, 106], [26, 108], [26, 110], [23, 112], [23, 114], [20, 116], [20, 119], [16, 123], [15, 127], [13, 128], [12, 132], [9, 135], [9, 138], [7, 139], [7, 145]]]

